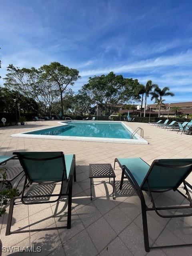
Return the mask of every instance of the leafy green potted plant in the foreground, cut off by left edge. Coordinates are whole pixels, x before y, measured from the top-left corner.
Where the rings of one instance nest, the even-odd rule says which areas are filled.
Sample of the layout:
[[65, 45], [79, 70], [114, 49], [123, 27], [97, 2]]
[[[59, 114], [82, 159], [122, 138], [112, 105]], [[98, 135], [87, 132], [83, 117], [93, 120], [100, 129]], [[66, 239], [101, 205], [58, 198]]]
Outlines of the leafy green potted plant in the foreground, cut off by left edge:
[[[2, 180], [0, 180], [0, 218], [6, 212], [6, 205], [10, 202], [11, 198], [15, 196], [19, 196], [19, 191], [16, 189], [12, 189], [12, 186], [7, 179], [6, 172], [2, 173], [2, 169], [0, 169]], [[2, 242], [0, 240], [0, 256], [2, 254]]]

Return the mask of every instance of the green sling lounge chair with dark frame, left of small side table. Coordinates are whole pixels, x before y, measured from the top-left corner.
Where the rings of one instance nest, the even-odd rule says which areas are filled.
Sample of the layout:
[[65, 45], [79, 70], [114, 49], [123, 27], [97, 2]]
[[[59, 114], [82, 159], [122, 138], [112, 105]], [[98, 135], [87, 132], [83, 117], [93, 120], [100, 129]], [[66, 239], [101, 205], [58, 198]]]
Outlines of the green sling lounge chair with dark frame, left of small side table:
[[[12, 198], [10, 201], [10, 208], [8, 214], [6, 236], [13, 233], [22, 232], [34, 232], [40, 230], [51, 230], [58, 228], [71, 228], [71, 204], [72, 204], [72, 183], [73, 176], [76, 181], [76, 170], [75, 170], [75, 155], [65, 155], [63, 152], [14, 152], [22, 165], [25, 172], [25, 182], [20, 197]], [[38, 186], [32, 186], [30, 189], [32, 193], [25, 195], [27, 181], [29, 184], [46, 184], [52, 186], [57, 182], [61, 182], [60, 191], [57, 194], [47, 193], [43, 191], [42, 186], [40, 192], [35, 193]], [[63, 191], [64, 181], [67, 182], [67, 188]], [[50, 192], [50, 190], [49, 190]], [[53, 200], [48, 200], [52, 196], [56, 197]], [[10, 231], [13, 207], [15, 199], [21, 199], [23, 204], [44, 204], [57, 202], [61, 196], [68, 196], [68, 214], [67, 214], [67, 226], [60, 226], [56, 228], [41, 228], [23, 230], [20, 228], [16, 231]], [[47, 199], [48, 198], [48, 199]], [[30, 201], [28, 201], [30, 199]], [[38, 200], [37, 200], [38, 199]]]

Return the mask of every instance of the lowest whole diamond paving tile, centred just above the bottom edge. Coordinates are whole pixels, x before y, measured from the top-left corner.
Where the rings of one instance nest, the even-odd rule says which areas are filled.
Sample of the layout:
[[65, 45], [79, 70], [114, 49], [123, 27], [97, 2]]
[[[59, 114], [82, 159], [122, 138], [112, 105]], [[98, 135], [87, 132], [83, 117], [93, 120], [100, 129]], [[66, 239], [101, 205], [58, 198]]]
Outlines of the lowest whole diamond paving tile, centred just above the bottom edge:
[[98, 252], [116, 237], [116, 233], [103, 217], [88, 226], [86, 230]]

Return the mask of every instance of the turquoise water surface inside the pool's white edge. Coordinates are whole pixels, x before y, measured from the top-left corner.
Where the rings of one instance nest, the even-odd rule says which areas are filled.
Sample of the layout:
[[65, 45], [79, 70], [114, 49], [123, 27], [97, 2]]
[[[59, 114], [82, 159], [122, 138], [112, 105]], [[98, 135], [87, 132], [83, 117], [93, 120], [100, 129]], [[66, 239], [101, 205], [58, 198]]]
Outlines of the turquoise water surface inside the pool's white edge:
[[[131, 132], [120, 122], [86, 122], [70, 121], [65, 126], [48, 128], [26, 134], [77, 136], [95, 138], [121, 138], [130, 139]], [[135, 137], [133, 139], [136, 139]]]

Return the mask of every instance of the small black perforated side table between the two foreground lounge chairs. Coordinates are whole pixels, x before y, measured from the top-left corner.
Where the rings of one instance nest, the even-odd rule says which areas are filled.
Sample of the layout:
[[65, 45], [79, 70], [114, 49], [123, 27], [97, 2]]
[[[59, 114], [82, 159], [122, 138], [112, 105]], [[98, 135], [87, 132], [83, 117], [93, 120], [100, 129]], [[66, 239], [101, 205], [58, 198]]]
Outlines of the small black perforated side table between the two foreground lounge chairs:
[[[90, 188], [92, 184], [92, 178], [113, 178], [113, 199], [114, 199], [114, 187], [115, 187], [115, 173], [111, 164], [90, 164], [89, 165], [89, 178], [90, 178]], [[91, 190], [91, 200], [92, 200], [92, 190]]]

